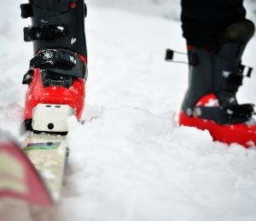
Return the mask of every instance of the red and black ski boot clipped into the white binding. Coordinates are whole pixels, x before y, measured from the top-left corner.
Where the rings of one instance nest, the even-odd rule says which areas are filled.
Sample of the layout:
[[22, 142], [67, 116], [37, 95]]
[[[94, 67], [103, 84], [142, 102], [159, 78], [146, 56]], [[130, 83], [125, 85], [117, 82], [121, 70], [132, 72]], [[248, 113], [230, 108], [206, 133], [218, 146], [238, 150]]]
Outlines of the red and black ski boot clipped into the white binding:
[[[68, 105], [78, 120], [84, 109], [87, 50], [84, 35], [84, 0], [29, 0], [21, 17], [32, 18], [24, 41], [33, 42], [34, 58], [23, 78], [28, 85], [24, 118], [31, 128], [38, 104]], [[49, 124], [48, 127], [52, 127]]]

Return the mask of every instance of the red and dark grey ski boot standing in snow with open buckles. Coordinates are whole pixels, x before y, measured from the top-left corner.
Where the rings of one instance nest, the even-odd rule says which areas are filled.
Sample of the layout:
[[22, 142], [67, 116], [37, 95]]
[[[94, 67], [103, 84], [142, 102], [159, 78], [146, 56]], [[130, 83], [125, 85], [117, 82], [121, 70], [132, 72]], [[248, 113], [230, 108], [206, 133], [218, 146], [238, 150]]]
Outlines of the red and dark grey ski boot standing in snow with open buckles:
[[188, 47], [189, 88], [179, 113], [179, 125], [208, 130], [213, 140], [226, 144], [247, 148], [256, 145], [253, 105], [239, 105], [236, 99], [242, 78], [249, 77], [252, 71], [241, 65], [241, 55], [253, 32], [253, 22], [244, 20], [221, 33], [217, 52]]

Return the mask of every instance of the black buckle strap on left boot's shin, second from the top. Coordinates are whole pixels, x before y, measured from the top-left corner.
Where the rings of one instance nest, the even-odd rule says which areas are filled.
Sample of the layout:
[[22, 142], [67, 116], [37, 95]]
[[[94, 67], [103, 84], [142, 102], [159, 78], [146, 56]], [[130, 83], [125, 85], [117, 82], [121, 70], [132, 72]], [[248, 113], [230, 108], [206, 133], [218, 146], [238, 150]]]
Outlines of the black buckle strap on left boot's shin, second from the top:
[[43, 25], [40, 27], [25, 27], [24, 41], [32, 42], [35, 40], [54, 40], [59, 37], [67, 36], [67, 26], [66, 25]]

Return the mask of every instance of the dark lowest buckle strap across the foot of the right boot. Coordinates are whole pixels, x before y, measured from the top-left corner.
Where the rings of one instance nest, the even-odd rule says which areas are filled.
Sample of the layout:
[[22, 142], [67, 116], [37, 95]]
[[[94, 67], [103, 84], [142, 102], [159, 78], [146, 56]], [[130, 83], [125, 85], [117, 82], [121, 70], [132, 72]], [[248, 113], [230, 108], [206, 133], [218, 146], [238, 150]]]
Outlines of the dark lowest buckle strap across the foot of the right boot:
[[195, 106], [193, 116], [212, 120], [219, 124], [234, 124], [247, 122], [253, 115], [252, 104], [230, 105], [227, 107]]

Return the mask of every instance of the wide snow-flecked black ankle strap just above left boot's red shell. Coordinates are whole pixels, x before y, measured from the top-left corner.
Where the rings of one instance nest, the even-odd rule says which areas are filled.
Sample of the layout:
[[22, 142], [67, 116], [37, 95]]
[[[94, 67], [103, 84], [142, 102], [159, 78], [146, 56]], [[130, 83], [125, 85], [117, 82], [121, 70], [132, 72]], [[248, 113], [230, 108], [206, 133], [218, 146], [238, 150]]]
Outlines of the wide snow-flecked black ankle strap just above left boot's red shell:
[[86, 78], [87, 66], [67, 49], [42, 49], [30, 60], [30, 68], [41, 68], [67, 76]]

